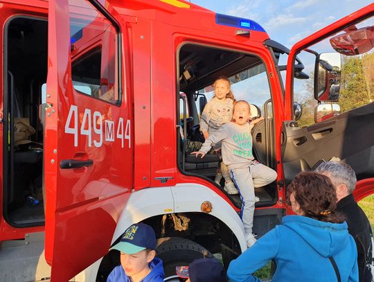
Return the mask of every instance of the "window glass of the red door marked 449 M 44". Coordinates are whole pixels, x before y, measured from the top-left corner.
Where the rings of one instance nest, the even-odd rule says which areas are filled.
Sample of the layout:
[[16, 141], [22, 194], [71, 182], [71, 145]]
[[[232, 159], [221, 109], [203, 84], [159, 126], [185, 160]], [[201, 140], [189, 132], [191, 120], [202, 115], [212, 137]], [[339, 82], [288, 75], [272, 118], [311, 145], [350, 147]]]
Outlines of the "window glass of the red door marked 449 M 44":
[[69, 0], [71, 76], [81, 94], [118, 104], [118, 35], [88, 1]]

